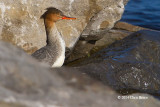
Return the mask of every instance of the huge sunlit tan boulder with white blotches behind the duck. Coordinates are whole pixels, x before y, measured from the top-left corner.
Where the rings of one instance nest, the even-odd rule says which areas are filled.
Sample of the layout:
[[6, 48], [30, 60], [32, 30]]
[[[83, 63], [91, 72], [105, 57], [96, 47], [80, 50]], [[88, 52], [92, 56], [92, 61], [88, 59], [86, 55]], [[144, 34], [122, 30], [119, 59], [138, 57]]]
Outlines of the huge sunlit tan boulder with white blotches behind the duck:
[[46, 36], [40, 16], [45, 8], [53, 6], [62, 10], [65, 15], [77, 18], [74, 21], [63, 20], [56, 24], [66, 46], [72, 48], [86, 26], [89, 32], [101, 28], [98, 27], [100, 25], [106, 29], [113, 27], [121, 18], [127, 1], [1, 0], [0, 39], [17, 45], [28, 53], [43, 47], [46, 44]]

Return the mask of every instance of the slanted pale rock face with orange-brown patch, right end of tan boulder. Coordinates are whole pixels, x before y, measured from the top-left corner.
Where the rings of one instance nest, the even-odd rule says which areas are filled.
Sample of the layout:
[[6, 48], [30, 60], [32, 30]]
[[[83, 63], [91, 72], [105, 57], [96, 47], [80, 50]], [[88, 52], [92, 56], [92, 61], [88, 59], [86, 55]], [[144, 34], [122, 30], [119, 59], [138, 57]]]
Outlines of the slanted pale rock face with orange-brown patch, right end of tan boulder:
[[111, 29], [114, 27], [115, 22], [121, 19], [124, 11], [124, 2], [126, 3], [126, 0], [118, 0], [114, 3], [110, 1], [105, 2], [105, 0], [97, 1], [96, 4], [98, 5], [102, 6], [106, 4], [102, 6], [102, 10], [99, 10], [99, 12], [91, 18], [81, 36], [93, 35], [99, 32], [99, 29]]

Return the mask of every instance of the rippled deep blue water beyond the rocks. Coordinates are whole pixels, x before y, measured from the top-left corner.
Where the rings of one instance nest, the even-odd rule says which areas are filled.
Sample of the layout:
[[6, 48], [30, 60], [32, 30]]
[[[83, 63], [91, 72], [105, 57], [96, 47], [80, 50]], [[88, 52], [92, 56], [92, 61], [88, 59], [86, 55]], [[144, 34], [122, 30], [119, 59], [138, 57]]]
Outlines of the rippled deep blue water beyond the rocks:
[[130, 0], [121, 21], [160, 30], [160, 0]]

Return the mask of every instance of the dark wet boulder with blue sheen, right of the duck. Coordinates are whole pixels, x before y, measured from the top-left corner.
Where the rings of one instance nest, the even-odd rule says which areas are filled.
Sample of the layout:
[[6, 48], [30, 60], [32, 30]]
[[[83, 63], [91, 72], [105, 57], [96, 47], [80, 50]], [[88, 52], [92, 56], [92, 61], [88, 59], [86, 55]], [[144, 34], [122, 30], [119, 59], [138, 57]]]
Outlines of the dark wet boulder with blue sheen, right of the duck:
[[160, 94], [159, 41], [159, 31], [138, 31], [76, 65], [114, 89]]

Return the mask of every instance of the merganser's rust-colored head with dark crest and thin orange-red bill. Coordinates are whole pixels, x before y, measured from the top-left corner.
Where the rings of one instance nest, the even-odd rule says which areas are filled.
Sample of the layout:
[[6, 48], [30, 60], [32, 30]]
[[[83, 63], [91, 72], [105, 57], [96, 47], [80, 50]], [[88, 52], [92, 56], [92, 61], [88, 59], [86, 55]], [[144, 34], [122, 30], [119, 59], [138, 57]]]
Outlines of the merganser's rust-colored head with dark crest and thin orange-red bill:
[[53, 22], [57, 22], [58, 20], [61, 19], [69, 19], [69, 20], [74, 20], [76, 18], [71, 18], [71, 17], [67, 17], [65, 16], [62, 11], [54, 8], [54, 7], [49, 7], [46, 9], [47, 11], [41, 16], [41, 18], [43, 19], [47, 19]]

